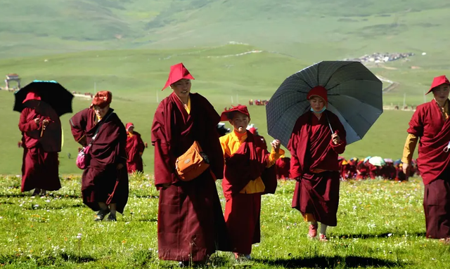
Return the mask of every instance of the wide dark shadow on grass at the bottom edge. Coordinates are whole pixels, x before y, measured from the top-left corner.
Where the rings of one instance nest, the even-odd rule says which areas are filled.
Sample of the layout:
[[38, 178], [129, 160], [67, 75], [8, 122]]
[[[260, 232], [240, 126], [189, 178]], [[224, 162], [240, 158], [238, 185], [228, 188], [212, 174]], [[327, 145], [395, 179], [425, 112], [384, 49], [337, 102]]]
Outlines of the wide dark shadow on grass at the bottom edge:
[[380, 258], [359, 256], [315, 256], [312, 258], [291, 259], [259, 259], [253, 261], [266, 265], [282, 266], [283, 268], [364, 268], [364, 267], [402, 267], [406, 263], [383, 260]]

